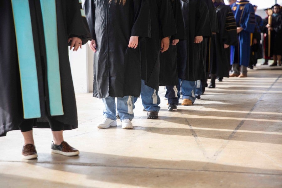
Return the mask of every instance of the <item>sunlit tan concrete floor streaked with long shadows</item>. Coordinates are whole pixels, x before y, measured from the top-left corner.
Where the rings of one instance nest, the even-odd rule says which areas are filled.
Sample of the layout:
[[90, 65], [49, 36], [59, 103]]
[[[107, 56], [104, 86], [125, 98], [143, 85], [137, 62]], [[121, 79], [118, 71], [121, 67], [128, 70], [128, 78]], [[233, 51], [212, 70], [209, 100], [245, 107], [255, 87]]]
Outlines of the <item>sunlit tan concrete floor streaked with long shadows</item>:
[[0, 138], [0, 187], [282, 187], [282, 70], [224, 78], [194, 106], [158, 120], [140, 99], [134, 128], [98, 129], [102, 101], [77, 94], [79, 128], [64, 133], [76, 157], [50, 154], [49, 129], [34, 129], [38, 159], [21, 158], [23, 138]]

